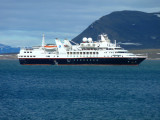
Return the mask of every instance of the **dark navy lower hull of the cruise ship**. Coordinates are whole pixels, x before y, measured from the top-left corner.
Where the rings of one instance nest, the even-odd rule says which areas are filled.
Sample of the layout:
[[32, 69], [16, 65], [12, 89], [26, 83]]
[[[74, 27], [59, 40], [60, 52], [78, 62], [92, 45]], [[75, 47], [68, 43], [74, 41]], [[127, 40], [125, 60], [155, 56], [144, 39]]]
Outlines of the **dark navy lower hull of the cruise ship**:
[[22, 65], [138, 65], [145, 58], [19, 59]]

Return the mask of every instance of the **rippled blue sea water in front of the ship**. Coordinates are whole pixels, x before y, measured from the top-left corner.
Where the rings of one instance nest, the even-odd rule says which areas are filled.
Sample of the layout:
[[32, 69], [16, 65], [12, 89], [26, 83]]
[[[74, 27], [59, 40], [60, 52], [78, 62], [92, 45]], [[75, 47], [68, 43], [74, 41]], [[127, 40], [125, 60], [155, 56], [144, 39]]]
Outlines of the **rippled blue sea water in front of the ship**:
[[0, 120], [160, 120], [160, 61], [23, 66], [0, 60]]

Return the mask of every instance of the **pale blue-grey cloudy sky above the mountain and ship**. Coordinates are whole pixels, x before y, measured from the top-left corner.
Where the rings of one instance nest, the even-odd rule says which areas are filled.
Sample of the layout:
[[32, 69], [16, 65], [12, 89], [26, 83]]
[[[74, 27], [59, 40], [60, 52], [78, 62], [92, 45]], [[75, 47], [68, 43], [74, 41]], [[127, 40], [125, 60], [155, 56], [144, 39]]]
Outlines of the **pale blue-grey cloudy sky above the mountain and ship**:
[[113, 11], [160, 12], [160, 0], [0, 0], [0, 43], [40, 45], [72, 39]]

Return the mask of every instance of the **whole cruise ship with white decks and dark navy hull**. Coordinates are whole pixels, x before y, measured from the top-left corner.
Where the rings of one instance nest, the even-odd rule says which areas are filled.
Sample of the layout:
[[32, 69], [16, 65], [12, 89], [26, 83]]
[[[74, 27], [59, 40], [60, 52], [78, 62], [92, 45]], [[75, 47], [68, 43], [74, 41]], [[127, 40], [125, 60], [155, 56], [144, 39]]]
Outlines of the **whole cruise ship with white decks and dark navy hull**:
[[18, 54], [21, 65], [139, 65], [147, 58], [111, 43], [107, 34], [98, 36], [97, 41], [84, 37], [82, 43], [67, 39], [55, 39], [55, 44], [45, 44], [32, 48], [21, 48]]

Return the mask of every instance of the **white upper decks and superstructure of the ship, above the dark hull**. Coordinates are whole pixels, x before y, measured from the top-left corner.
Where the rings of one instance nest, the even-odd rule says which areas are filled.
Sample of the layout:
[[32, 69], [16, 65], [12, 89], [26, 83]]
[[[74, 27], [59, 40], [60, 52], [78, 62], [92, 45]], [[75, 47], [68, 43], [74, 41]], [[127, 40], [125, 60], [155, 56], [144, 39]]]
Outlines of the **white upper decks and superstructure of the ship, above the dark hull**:
[[42, 46], [22, 48], [19, 58], [76, 58], [76, 57], [146, 57], [135, 55], [124, 50], [119, 45], [111, 43], [106, 34], [100, 35], [98, 41], [92, 38], [83, 38], [82, 43], [72, 45], [69, 40], [63, 43], [56, 39], [56, 44], [45, 44], [43, 36]]

